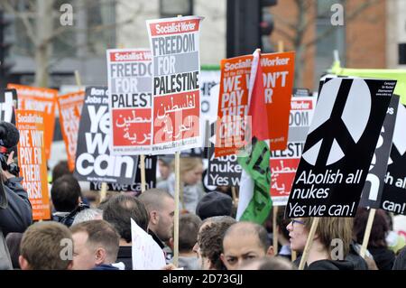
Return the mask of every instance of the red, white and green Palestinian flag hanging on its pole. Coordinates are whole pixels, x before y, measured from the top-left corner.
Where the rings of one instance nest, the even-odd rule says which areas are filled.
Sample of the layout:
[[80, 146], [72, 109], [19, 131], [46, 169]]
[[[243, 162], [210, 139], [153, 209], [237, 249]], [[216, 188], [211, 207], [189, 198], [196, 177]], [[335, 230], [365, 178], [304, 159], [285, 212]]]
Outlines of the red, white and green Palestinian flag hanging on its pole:
[[271, 170], [269, 166], [270, 149], [268, 138], [267, 110], [263, 92], [263, 70], [261, 52], [254, 52], [251, 66], [249, 87], [249, 110], [251, 116], [251, 133], [253, 140], [248, 155], [238, 156], [238, 163], [243, 167], [240, 182], [240, 194], [236, 219], [252, 221], [258, 224], [268, 218], [272, 208], [270, 196]]

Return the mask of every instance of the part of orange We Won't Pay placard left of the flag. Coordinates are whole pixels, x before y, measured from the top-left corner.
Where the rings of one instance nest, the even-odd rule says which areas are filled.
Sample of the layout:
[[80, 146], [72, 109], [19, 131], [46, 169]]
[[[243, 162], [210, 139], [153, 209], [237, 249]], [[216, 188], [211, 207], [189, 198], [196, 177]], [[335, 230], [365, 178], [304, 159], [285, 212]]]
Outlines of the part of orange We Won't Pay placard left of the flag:
[[253, 55], [221, 60], [215, 156], [235, 154], [245, 144], [248, 86]]

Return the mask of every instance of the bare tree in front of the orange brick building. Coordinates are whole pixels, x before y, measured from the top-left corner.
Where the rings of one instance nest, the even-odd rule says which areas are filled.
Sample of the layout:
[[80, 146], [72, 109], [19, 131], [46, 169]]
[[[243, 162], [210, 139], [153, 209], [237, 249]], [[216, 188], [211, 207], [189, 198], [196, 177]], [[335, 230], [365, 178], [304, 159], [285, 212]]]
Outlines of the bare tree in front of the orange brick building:
[[[295, 86], [302, 87], [303, 85], [303, 69], [305, 63], [305, 52], [317, 44], [321, 39], [327, 37], [329, 34], [335, 32], [338, 26], [329, 25], [324, 31], [318, 33], [312, 39], [306, 39], [305, 35], [309, 32], [312, 25], [317, 21], [318, 14], [312, 13], [315, 9], [317, 1], [323, 0], [293, 0], [298, 13], [294, 22], [291, 22], [283, 17], [283, 15], [272, 14], [275, 17], [275, 23], [278, 23], [275, 31], [280, 33], [291, 44], [294, 51], [296, 51], [295, 61]], [[378, 4], [383, 0], [364, 0], [363, 3], [355, 6], [351, 11], [346, 11], [345, 22], [349, 23], [359, 15], [362, 14], [368, 7]], [[341, 4], [346, 6], [348, 0], [342, 0]], [[328, 12], [330, 13], [330, 12]]]

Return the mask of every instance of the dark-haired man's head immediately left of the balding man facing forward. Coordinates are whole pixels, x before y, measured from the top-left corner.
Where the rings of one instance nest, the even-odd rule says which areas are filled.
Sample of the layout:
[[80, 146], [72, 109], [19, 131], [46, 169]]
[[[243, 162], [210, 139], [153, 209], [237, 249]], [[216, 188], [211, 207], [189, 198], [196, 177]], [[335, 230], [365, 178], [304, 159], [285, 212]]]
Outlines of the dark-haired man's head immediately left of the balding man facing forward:
[[193, 251], [198, 254], [202, 270], [226, 270], [221, 262], [223, 237], [226, 230], [235, 224], [235, 218], [217, 216], [207, 218], [198, 229], [198, 242]]

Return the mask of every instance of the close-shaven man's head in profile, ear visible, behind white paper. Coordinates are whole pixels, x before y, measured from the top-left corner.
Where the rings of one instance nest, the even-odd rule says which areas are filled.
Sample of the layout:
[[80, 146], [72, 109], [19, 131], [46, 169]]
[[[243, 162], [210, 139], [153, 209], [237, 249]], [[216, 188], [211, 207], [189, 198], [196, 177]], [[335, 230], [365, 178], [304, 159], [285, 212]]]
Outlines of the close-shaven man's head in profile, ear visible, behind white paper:
[[166, 242], [172, 236], [175, 201], [170, 193], [161, 189], [146, 190], [139, 196], [150, 215], [148, 228]]

